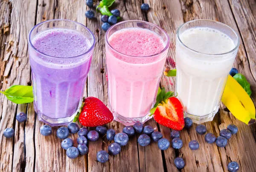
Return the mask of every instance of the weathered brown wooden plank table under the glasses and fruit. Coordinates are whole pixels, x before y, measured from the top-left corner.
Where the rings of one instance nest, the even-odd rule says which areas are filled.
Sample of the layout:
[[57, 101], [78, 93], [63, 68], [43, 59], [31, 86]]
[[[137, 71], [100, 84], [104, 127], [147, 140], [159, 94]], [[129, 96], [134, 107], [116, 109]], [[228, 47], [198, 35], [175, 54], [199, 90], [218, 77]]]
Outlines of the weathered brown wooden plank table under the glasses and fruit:
[[[98, 3], [98, 2], [97, 2]], [[140, 10], [142, 3], [148, 3], [148, 12]], [[241, 37], [239, 52], [234, 66], [251, 83], [252, 99], [256, 104], [256, 1], [255, 0], [116, 0], [113, 8], [121, 11], [122, 20], [146, 20], [157, 24], [168, 32], [171, 45], [166, 66], [175, 68], [175, 32], [182, 23], [193, 19], [218, 20], [232, 27]], [[86, 19], [89, 10], [84, 0], [0, 0], [0, 89], [12, 85], [31, 85], [27, 35], [37, 23], [49, 19], [70, 19], [87, 26], [96, 37], [96, 46], [87, 79], [85, 96], [98, 97], [107, 103], [107, 81], [105, 77], [105, 32], [101, 29], [100, 14], [93, 20]], [[93, 9], [95, 11], [95, 9]], [[174, 90], [175, 78], [162, 77], [161, 86]], [[200, 91], [200, 90], [198, 90]], [[15, 116], [26, 112], [28, 121], [18, 123]], [[39, 171], [39, 172], [177, 172], [175, 157], [181, 156], [186, 165], [181, 172], [227, 172], [227, 163], [239, 163], [239, 172], [256, 172], [256, 125], [247, 126], [236, 120], [221, 105], [221, 110], [212, 122], [204, 123], [207, 132], [219, 135], [221, 129], [233, 123], [239, 132], [233, 135], [225, 148], [207, 144], [204, 135], [195, 132], [196, 124], [189, 130], [181, 131], [183, 147], [171, 147], [160, 151], [156, 143], [142, 147], [137, 145], [138, 136], [122, 147], [119, 155], [110, 156], [107, 163], [96, 161], [99, 150], [107, 150], [110, 144], [106, 138], [88, 144], [88, 155], [74, 160], [67, 158], [61, 148], [61, 140], [53, 128], [49, 137], [40, 134], [40, 122], [35, 115], [33, 103], [20, 104], [0, 95], [0, 171]], [[146, 125], [154, 127], [170, 140], [171, 129], [149, 120]], [[15, 129], [15, 137], [3, 137], [7, 127]], [[116, 132], [124, 126], [111, 122], [108, 128]], [[75, 140], [77, 135], [71, 135]], [[198, 140], [200, 149], [191, 151], [190, 140]]]

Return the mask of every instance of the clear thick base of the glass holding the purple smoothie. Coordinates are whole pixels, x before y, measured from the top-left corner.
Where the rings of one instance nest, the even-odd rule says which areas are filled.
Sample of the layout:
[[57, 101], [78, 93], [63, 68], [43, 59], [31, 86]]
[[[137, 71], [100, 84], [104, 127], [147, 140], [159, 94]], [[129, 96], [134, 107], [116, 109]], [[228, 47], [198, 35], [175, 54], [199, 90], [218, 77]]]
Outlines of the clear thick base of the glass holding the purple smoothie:
[[66, 117], [66, 118], [49, 118], [46, 115], [44, 115], [43, 113], [41, 113], [40, 111], [37, 112], [37, 115], [38, 115], [38, 119], [40, 121], [47, 123], [50, 126], [62, 126], [62, 125], [68, 125], [69, 123], [71, 123], [73, 121], [74, 117], [76, 116], [78, 110], [73, 115], [71, 115], [70, 117]]

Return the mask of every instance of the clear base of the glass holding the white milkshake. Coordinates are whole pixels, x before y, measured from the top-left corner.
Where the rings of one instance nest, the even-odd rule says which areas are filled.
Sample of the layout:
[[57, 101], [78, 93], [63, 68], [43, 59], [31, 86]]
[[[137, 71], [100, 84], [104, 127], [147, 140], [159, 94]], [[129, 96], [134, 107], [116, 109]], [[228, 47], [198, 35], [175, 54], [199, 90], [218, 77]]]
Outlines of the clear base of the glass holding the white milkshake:
[[220, 106], [216, 106], [215, 107], [215, 110], [212, 112], [212, 113], [209, 113], [207, 115], [204, 115], [204, 116], [197, 116], [197, 115], [191, 115], [187, 112], [184, 112], [184, 118], [185, 117], [189, 117], [192, 119], [193, 123], [197, 123], [197, 124], [201, 124], [201, 123], [204, 123], [204, 122], [208, 122], [208, 121], [212, 121], [215, 114], [218, 112], [218, 109], [219, 109]]

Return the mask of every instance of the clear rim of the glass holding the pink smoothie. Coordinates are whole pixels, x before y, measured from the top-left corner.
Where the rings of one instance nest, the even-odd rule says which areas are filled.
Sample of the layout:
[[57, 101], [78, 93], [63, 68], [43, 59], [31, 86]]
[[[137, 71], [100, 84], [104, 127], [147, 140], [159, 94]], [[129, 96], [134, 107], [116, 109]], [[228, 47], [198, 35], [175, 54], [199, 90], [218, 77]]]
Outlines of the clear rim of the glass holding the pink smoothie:
[[[164, 47], [164, 49], [162, 49], [160, 52], [158, 52], [158, 53], [156, 53], [156, 54], [152, 54], [152, 55], [148, 55], [148, 56], [140, 56], [140, 58], [141, 58], [141, 57], [143, 57], [143, 58], [153, 57], [153, 56], [162, 54], [163, 52], [166, 51], [166, 49], [169, 48], [170, 37], [169, 37], [169, 35], [167, 34], [167, 32], [166, 32], [165, 30], [163, 30], [162, 28], [160, 28], [159, 26], [157, 26], [157, 25], [155, 25], [155, 24], [153, 24], [153, 23], [147, 22], [147, 21], [142, 21], [142, 20], [125, 20], [125, 21], [122, 21], [122, 22], [119, 22], [119, 23], [116, 23], [116, 24], [112, 25], [112, 26], [108, 29], [108, 31], [106, 32], [106, 34], [105, 34], [105, 41], [106, 41], [107, 45], [111, 48], [111, 50], [113, 50], [114, 52], [116, 52], [116, 53], [118, 53], [118, 54], [125, 55], [125, 56], [127, 56], [127, 57], [135, 57], [135, 58], [138, 58], [138, 56], [127, 55], [127, 54], [123, 54], [122, 52], [117, 51], [116, 49], [114, 49], [114, 48], [110, 45], [110, 43], [108, 42], [108, 38], [107, 38], [108, 33], [109, 33], [110, 30], [113, 29], [115, 26], [118, 26], [118, 25], [120, 25], [120, 24], [122, 24], [122, 23], [133, 23], [133, 22], [141, 22], [141, 23], [146, 23], [146, 24], [148, 24], [148, 25], [154, 26], [154, 27], [156, 27], [157, 29], [159, 29], [161, 32], [163, 32], [163, 33], [165, 34], [165, 36], [167, 37], [167, 43], [166, 43], [166, 46]], [[134, 28], [135, 28], [135, 27], [134, 27]]]

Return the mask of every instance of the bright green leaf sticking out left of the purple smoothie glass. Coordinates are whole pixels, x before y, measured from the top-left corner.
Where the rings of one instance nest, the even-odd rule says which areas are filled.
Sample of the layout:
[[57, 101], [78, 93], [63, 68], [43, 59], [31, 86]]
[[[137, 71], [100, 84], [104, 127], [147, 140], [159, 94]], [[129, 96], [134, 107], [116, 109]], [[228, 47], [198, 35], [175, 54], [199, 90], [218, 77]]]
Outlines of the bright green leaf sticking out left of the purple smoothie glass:
[[10, 86], [9, 89], [6, 89], [1, 93], [3, 93], [8, 100], [11, 100], [13, 103], [22, 104], [33, 102], [32, 86], [14, 85]]

